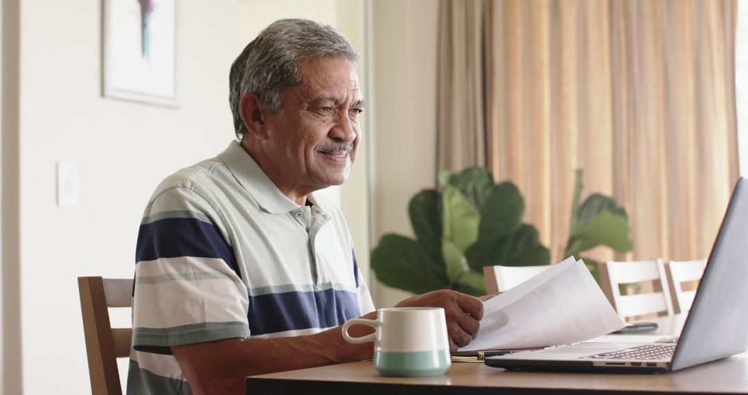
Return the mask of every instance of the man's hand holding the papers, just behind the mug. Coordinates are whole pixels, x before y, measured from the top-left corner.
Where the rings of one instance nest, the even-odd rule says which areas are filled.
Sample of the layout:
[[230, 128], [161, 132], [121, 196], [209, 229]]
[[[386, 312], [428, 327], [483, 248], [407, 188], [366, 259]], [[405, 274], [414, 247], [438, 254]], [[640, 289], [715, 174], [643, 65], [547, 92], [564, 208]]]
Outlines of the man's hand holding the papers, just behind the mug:
[[478, 336], [483, 302], [479, 298], [453, 290], [438, 290], [407, 298], [395, 307], [443, 307], [447, 317], [450, 352], [467, 346]]

